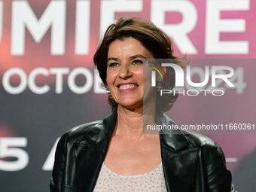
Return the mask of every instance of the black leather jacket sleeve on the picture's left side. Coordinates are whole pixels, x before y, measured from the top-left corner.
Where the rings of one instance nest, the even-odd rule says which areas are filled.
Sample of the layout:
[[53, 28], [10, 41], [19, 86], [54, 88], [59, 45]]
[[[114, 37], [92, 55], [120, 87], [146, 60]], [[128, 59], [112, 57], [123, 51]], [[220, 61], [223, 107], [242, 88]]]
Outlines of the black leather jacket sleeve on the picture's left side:
[[66, 137], [62, 136], [59, 139], [55, 152], [55, 160], [52, 172], [52, 178], [50, 179], [50, 192], [61, 192], [62, 178], [65, 167], [66, 159]]

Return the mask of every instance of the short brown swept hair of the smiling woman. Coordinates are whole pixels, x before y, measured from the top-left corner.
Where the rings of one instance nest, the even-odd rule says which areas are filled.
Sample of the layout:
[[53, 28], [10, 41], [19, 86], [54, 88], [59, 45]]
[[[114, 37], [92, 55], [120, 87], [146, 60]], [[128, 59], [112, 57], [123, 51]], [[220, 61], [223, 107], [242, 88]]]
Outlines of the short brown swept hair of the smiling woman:
[[[102, 42], [93, 56], [94, 64], [99, 71], [99, 76], [106, 90], [108, 90], [106, 78], [109, 45], [115, 40], [122, 41], [126, 38], [135, 38], [140, 41], [154, 58], [172, 59], [172, 61], [175, 60], [176, 63], [180, 63], [178, 62], [178, 57], [173, 55], [172, 42], [168, 35], [155, 26], [154, 23], [141, 17], [121, 17], [117, 20], [117, 23], [108, 26]], [[182, 66], [181, 64], [179, 65]], [[167, 68], [166, 75], [168, 79], [161, 81], [161, 84], [163, 84], [163, 89], [172, 90], [175, 87], [175, 72], [172, 68]], [[159, 96], [160, 91], [157, 91], [157, 97]], [[156, 107], [160, 111], [168, 111], [172, 108], [177, 98], [178, 94], [161, 96], [161, 99], [157, 99]], [[108, 95], [108, 102], [112, 110], [117, 108], [117, 102], [114, 101], [110, 94]]]

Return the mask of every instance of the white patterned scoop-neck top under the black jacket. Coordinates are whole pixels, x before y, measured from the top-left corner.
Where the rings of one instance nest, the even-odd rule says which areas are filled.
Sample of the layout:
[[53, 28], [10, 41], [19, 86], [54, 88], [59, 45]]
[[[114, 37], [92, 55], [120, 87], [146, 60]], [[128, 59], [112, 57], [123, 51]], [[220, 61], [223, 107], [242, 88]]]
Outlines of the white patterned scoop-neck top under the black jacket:
[[160, 163], [156, 169], [142, 175], [120, 175], [112, 172], [103, 163], [99, 172], [94, 192], [166, 192], [166, 183], [163, 176], [163, 166]]

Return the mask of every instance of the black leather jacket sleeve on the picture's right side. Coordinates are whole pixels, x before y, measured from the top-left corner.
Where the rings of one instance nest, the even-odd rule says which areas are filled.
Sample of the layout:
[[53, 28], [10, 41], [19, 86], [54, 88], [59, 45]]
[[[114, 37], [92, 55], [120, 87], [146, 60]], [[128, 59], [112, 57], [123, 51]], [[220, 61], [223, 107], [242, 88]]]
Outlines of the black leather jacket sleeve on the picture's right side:
[[206, 162], [207, 180], [211, 192], [235, 192], [232, 175], [226, 167], [224, 153], [218, 145], [202, 148]]

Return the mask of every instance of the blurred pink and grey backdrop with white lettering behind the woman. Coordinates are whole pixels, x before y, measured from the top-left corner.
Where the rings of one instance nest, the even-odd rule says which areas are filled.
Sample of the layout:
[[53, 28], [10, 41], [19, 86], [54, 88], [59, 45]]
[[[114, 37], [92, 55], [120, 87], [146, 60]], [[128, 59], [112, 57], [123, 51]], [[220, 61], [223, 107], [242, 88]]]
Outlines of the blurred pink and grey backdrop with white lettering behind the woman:
[[194, 81], [205, 66], [234, 69], [233, 89], [216, 84], [224, 96], [181, 95], [168, 114], [179, 125], [245, 123], [205, 134], [224, 150], [237, 190], [256, 191], [255, 11], [252, 0], [0, 0], [0, 191], [49, 191], [59, 137], [111, 112], [93, 54], [110, 23], [132, 16], [169, 35]]

